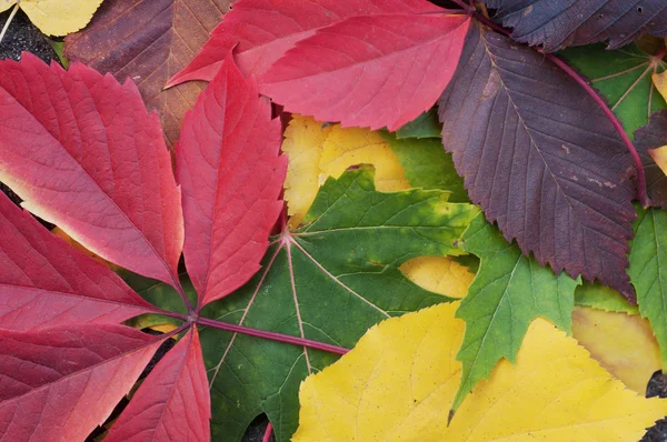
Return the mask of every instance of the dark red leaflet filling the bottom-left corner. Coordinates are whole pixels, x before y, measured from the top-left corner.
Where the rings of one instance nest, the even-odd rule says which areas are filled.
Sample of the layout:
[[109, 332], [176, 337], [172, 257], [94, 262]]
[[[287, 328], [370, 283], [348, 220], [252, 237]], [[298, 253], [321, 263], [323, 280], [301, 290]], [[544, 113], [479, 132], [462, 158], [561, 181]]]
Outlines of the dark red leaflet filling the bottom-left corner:
[[12, 441], [84, 440], [163, 339], [125, 325], [0, 330], [0, 434]]

